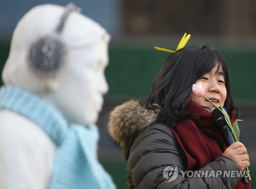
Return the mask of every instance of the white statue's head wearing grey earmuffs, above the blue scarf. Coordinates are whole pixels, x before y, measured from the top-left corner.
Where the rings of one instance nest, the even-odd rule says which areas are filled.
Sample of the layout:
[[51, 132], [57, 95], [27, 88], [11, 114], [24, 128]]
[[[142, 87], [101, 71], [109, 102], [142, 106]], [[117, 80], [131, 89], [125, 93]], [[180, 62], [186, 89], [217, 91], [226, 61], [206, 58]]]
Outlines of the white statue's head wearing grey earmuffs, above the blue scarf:
[[74, 5], [40, 5], [18, 22], [3, 81], [36, 93], [68, 122], [97, 121], [108, 91], [110, 36]]

